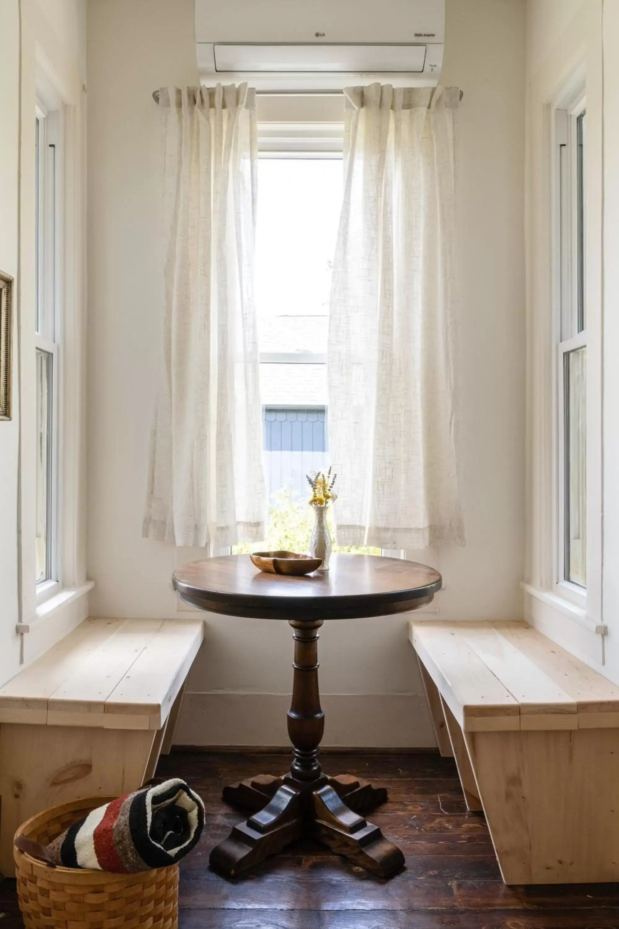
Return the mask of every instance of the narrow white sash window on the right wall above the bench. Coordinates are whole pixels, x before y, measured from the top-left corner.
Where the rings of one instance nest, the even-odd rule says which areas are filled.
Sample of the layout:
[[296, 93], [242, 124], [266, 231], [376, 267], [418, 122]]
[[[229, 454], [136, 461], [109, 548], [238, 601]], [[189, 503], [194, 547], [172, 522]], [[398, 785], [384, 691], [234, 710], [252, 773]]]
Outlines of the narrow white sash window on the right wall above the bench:
[[585, 158], [581, 98], [556, 114], [558, 249], [559, 551], [561, 584], [587, 587], [587, 305]]

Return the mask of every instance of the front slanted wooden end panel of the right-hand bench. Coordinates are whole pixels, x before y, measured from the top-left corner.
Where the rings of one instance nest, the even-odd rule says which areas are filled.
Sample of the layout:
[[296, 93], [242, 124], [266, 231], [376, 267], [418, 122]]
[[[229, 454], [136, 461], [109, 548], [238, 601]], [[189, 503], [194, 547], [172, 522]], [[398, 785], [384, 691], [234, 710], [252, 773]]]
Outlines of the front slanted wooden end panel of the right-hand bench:
[[619, 729], [465, 739], [505, 883], [619, 881]]

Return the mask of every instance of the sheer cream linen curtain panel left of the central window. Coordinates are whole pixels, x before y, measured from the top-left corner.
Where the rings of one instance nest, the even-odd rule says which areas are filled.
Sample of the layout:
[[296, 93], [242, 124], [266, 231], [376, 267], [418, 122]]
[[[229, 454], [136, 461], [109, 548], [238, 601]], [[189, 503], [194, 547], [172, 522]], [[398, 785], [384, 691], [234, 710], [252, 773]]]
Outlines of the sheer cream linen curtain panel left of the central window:
[[264, 538], [255, 90], [170, 87], [160, 109], [164, 308], [143, 535], [213, 553]]

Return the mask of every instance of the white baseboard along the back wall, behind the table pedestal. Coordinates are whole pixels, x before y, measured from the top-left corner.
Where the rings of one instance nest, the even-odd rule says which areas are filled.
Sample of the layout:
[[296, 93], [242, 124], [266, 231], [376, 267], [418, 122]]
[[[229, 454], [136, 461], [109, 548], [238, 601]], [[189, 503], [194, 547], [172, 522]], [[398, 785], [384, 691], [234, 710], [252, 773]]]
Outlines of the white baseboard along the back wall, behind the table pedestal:
[[[325, 749], [435, 746], [419, 694], [323, 694]], [[175, 745], [252, 748], [288, 744], [289, 694], [186, 693]]]

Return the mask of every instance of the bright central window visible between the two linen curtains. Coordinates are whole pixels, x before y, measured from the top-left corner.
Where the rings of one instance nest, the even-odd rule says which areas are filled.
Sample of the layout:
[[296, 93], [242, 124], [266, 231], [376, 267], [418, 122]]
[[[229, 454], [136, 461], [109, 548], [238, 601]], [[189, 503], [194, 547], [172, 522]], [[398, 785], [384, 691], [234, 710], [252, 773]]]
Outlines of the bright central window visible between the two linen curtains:
[[307, 549], [313, 514], [305, 475], [330, 464], [327, 333], [342, 179], [342, 157], [333, 152], [259, 163], [255, 288], [268, 549]]

